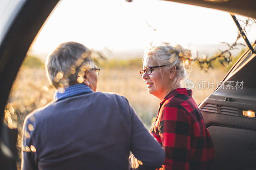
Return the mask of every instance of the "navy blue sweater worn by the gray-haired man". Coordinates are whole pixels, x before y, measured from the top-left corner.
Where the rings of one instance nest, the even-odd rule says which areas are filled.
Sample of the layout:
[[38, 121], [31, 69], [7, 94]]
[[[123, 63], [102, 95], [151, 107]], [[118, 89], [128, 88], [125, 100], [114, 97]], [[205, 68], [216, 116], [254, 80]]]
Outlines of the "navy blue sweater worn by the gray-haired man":
[[53, 101], [29, 114], [23, 125], [22, 169], [156, 169], [164, 150], [148, 133], [127, 99], [89, 92]]

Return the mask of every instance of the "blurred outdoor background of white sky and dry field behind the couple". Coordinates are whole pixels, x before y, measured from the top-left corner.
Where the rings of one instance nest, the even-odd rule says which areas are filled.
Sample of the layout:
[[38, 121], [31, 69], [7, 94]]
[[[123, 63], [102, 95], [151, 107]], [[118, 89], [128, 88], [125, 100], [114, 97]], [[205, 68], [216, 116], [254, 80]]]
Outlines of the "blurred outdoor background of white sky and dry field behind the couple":
[[[243, 16], [237, 18], [241, 25], [245, 22]], [[255, 40], [255, 30], [255, 25], [247, 28], [250, 42]], [[160, 100], [147, 93], [140, 76], [144, 49], [150, 44], [179, 43], [198, 56], [211, 57], [228, 49], [221, 42], [232, 44], [236, 38], [237, 27], [223, 11], [157, 0], [61, 0], [29, 48], [6, 105], [5, 113], [10, 113], [12, 120], [7, 115], [5, 123], [20, 132], [19, 158], [24, 118], [51, 102], [56, 92], [45, 76], [44, 62], [59, 44], [77, 41], [90, 48], [101, 69], [97, 91], [127, 97], [149, 129]], [[233, 62], [225, 67], [214, 62], [213, 69], [204, 72], [196, 63], [189, 66], [187, 78], [195, 84], [193, 98], [197, 104], [214, 91], [244, 50], [244, 46], [232, 50]], [[197, 85], [202, 81], [205, 88], [200, 89]], [[208, 87], [209, 83], [213, 86]]]

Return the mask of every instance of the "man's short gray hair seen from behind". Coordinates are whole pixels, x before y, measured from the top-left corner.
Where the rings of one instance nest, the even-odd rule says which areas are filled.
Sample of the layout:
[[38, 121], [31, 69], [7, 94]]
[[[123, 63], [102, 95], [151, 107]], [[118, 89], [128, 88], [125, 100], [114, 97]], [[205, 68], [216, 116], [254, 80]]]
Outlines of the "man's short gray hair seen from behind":
[[47, 77], [56, 89], [82, 83], [78, 78], [93, 67], [91, 51], [77, 42], [60, 44], [45, 62]]

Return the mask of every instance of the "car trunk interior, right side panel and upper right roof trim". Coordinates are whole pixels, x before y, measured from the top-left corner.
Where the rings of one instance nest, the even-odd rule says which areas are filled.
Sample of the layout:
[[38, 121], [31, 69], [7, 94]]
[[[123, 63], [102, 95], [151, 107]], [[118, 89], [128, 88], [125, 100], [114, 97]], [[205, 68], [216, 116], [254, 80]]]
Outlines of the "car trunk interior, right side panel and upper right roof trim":
[[[256, 18], [256, 1], [252, 0], [171, 1]], [[254, 42], [254, 51], [255, 47]], [[255, 66], [255, 53], [247, 49], [224, 77], [223, 83], [199, 105], [214, 144], [212, 169], [256, 169]], [[242, 88], [236, 89], [236, 81], [243, 81]], [[234, 85], [230, 87], [231, 82]]]

